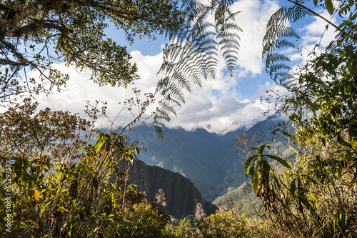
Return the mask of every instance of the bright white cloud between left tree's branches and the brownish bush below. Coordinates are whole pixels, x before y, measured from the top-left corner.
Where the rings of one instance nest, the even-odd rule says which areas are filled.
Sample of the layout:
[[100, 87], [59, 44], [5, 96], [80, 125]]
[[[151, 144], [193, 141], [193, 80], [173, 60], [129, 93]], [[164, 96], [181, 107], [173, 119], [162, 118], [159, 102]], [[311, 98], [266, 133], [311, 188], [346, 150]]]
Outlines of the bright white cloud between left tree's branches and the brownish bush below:
[[[71, 79], [68, 81], [66, 89], [59, 94], [51, 94], [49, 96], [41, 94], [38, 96], [37, 99], [41, 107], [49, 106], [54, 110], [68, 110], [86, 117], [84, 114], [86, 101], [90, 101], [92, 105], [95, 104], [96, 100], [106, 101], [108, 103], [107, 114], [111, 120], [114, 120], [122, 109], [123, 104], [119, 104], [119, 102], [123, 103], [126, 99], [135, 96], [132, 89], [136, 87], [141, 90], [141, 101], [144, 101], [144, 94], [146, 92], [154, 93], [156, 81], [159, 79], [158, 76], [156, 76], [156, 72], [161, 66], [161, 54], [156, 56], [143, 56], [139, 51], [134, 51], [131, 53], [131, 56], [133, 56], [133, 61], [135, 61], [139, 67], [141, 79], [136, 81], [136, 84], [129, 85], [127, 89], [124, 87], [118, 88], [111, 86], [99, 87], [94, 81], [89, 80], [91, 76], [90, 72], [82, 71], [79, 73], [73, 68], [67, 68], [64, 64], [56, 65], [58, 69], [68, 73]], [[155, 106], [151, 105], [147, 111], [150, 113], [154, 110]], [[135, 108], [134, 113], [136, 113]], [[119, 119], [120, 120], [114, 124], [114, 127], [131, 122], [133, 116], [124, 110], [119, 116]], [[106, 118], [100, 117], [96, 125], [97, 127], [109, 127], [109, 122]]]

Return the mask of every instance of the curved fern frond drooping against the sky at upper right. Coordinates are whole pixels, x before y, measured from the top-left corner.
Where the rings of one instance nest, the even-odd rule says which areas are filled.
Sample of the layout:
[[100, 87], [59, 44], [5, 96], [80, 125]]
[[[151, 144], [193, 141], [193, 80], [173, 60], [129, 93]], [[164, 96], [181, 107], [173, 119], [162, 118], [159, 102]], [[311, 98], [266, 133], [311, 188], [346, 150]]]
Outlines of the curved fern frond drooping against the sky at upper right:
[[[311, 5], [308, 5], [308, 1], [303, 0], [288, 0], [293, 3], [293, 6], [283, 6], [281, 9], [278, 9], [276, 13], [271, 16], [268, 24], [266, 26], [267, 31], [263, 39], [263, 58], [266, 59], [266, 71], [270, 74], [271, 78], [276, 81], [276, 83], [281, 84], [286, 87], [293, 85], [296, 81], [296, 77], [291, 74], [291, 66], [288, 62], [291, 61], [288, 56], [282, 51], [277, 51], [277, 49], [286, 49], [286, 48], [298, 48], [298, 46], [292, 39], [300, 39], [297, 32], [291, 26], [291, 23], [294, 23], [298, 20], [301, 20], [307, 16], [317, 16], [323, 21], [327, 22], [326, 29], [328, 26], [333, 26], [335, 29], [340, 31], [340, 36], [342, 38], [349, 38], [351, 40], [352, 29], [350, 24], [343, 23], [340, 26], [336, 26], [328, 19], [325, 19], [320, 14], [313, 11]], [[333, 14], [333, 4], [331, 0], [321, 0], [323, 4], [321, 6], [325, 7], [330, 14]], [[314, 0], [313, 4], [318, 5], [318, 1]], [[343, 14], [346, 15], [347, 11], [353, 8], [353, 1], [341, 1], [340, 9], [338, 12], [340, 16]], [[353, 14], [353, 9], [351, 14]], [[350, 20], [356, 16], [351, 16]]]

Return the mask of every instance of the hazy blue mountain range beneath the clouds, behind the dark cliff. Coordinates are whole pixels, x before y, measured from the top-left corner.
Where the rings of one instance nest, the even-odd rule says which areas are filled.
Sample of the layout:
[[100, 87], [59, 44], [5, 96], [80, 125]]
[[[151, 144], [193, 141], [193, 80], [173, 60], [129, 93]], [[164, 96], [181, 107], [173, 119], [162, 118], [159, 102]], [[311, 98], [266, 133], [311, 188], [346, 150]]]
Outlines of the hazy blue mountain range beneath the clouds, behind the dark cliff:
[[[288, 154], [286, 140], [271, 133], [278, 124], [283, 124], [283, 121], [281, 114], [277, 112], [246, 130], [248, 137], [251, 133], [261, 136], [253, 141], [248, 140], [248, 147], [255, 146], [256, 143], [271, 142], [271, 149], [266, 153]], [[190, 179], [202, 197], [209, 202], [248, 182], [243, 173], [243, 163], [247, 155], [234, 147], [240, 143], [233, 140], [236, 134], [242, 134], [243, 129], [224, 135], [209, 133], [206, 129], [163, 130], [165, 141], [156, 137], [154, 127], [146, 125], [132, 127], [131, 131], [127, 132], [131, 142], [137, 140], [146, 147], [146, 150], [141, 150], [139, 154], [139, 159], [146, 164], [178, 172]]]

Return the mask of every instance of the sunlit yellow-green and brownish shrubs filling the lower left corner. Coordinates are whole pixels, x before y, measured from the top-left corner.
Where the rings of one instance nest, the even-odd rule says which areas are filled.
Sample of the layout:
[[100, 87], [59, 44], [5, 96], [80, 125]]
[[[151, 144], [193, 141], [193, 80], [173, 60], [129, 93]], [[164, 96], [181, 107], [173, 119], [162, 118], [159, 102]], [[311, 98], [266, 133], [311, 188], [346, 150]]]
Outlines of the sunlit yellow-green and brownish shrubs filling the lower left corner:
[[[133, 162], [139, 148], [124, 137], [99, 132], [88, 144], [76, 130], [79, 116], [19, 104], [0, 115], [1, 223], [8, 237], [158, 237], [169, 217], [128, 184], [120, 159]], [[96, 117], [96, 110], [91, 111]], [[93, 127], [91, 128], [91, 134]], [[6, 166], [11, 162], [11, 166]], [[9, 180], [6, 180], [6, 179]], [[7, 181], [7, 182], [6, 182]], [[10, 183], [8, 184], [8, 182]], [[9, 196], [10, 194], [10, 196]]]

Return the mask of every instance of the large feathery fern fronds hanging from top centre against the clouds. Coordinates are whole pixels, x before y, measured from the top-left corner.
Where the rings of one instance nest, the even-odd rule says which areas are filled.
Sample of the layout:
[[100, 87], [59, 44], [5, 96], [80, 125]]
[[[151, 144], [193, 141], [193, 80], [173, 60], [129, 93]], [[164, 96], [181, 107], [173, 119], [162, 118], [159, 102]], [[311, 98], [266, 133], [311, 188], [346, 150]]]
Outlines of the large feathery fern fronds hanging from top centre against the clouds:
[[[206, 1], [205, 1], [206, 2]], [[170, 120], [169, 112], [176, 114], [173, 105], [185, 102], [183, 89], [191, 91], [191, 84], [201, 86], [201, 80], [215, 78], [218, 56], [223, 55], [229, 74], [233, 75], [239, 49], [236, 24], [238, 12], [231, 10], [232, 0], [183, 1], [182, 11], [186, 20], [181, 29], [169, 33], [169, 44], [164, 49], [164, 63], [159, 70], [164, 76], [156, 85], [156, 94], [163, 99], [156, 109], [156, 129], [164, 119]], [[162, 131], [157, 130], [159, 136]]]

